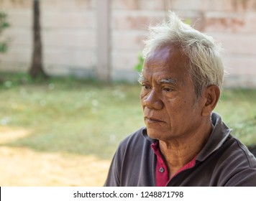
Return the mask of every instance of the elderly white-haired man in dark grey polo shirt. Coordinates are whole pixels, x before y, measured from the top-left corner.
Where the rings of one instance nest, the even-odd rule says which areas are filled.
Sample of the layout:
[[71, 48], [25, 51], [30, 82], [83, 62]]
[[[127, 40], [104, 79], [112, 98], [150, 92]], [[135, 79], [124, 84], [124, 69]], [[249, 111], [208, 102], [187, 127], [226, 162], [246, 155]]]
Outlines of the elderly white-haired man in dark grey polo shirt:
[[150, 27], [140, 76], [145, 128], [119, 145], [105, 186], [256, 186], [256, 159], [213, 110], [220, 47], [170, 13]]

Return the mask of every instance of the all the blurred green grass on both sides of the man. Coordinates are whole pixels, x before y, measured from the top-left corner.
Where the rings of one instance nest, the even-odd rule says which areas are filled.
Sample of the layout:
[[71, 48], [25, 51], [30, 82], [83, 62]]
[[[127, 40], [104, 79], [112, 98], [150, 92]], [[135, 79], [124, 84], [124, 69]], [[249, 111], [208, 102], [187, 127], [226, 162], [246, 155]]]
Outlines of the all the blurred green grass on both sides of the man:
[[[0, 127], [31, 131], [2, 145], [111, 159], [119, 142], [144, 126], [139, 85], [74, 78], [33, 83], [27, 75], [1, 77]], [[224, 90], [216, 108], [247, 145], [256, 144], [255, 100], [256, 90]]]

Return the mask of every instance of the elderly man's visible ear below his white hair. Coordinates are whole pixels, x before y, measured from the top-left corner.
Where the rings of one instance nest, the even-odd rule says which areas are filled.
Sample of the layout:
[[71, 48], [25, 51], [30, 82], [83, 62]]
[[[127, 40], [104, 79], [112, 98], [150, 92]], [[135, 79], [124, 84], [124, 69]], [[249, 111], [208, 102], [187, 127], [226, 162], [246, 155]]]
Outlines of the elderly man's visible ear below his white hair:
[[216, 104], [219, 101], [220, 90], [216, 85], [210, 85], [204, 89], [202, 93], [204, 98], [204, 107], [202, 109], [202, 116], [210, 116], [211, 112], [214, 110]]

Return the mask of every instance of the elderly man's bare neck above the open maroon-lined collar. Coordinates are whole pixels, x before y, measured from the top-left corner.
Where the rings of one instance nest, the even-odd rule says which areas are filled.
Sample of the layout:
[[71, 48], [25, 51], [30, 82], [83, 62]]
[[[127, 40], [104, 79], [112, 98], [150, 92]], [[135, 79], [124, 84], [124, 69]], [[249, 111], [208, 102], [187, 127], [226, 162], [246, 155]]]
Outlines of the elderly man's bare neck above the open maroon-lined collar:
[[172, 139], [170, 141], [159, 141], [160, 151], [165, 158], [168, 166], [169, 177], [178, 172], [188, 162], [198, 155], [211, 135], [212, 126], [204, 128], [204, 133], [198, 131], [180, 139]]

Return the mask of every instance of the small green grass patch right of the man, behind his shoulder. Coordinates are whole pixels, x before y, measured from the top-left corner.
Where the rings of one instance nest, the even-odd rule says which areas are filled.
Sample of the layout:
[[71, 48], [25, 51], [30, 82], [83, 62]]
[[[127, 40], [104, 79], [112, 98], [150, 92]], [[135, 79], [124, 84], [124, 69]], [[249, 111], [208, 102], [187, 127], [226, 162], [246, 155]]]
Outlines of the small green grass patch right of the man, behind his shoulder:
[[216, 107], [232, 134], [244, 144], [256, 144], [256, 89], [224, 90]]

